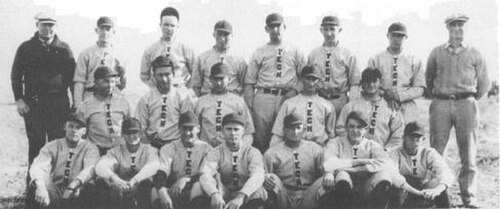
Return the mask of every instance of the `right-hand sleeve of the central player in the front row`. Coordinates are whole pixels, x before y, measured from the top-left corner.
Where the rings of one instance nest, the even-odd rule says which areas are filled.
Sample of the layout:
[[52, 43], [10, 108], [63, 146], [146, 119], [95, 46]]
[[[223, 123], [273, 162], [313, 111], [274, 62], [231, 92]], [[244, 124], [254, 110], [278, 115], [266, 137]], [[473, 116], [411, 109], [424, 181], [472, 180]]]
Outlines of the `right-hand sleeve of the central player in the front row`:
[[247, 156], [249, 157], [248, 161], [250, 161], [248, 166], [250, 178], [245, 182], [240, 192], [250, 197], [264, 183], [264, 160], [262, 154], [256, 149], [252, 149]]

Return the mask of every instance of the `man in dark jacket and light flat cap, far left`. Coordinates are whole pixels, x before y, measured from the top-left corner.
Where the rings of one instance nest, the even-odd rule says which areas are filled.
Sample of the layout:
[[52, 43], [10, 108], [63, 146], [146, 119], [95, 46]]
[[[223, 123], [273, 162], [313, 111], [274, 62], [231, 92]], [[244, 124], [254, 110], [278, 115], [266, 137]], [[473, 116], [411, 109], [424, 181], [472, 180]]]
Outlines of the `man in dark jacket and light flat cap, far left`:
[[17, 49], [11, 73], [17, 111], [26, 125], [30, 165], [47, 138], [64, 137], [75, 71], [71, 49], [55, 35], [55, 18], [39, 13], [35, 19], [38, 31]]

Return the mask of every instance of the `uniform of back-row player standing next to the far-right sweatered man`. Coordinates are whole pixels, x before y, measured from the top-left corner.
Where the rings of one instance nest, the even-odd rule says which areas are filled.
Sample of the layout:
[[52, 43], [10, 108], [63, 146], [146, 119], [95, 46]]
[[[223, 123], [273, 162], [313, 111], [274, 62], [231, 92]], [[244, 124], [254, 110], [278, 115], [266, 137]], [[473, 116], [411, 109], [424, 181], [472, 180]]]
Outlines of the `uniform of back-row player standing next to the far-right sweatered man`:
[[402, 51], [398, 55], [388, 50], [381, 52], [368, 61], [368, 66], [382, 72], [382, 87], [395, 89], [399, 97], [398, 104], [406, 122], [418, 118], [415, 99], [422, 96], [425, 88], [422, 62], [411, 53]]

